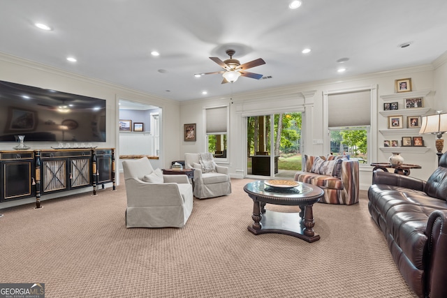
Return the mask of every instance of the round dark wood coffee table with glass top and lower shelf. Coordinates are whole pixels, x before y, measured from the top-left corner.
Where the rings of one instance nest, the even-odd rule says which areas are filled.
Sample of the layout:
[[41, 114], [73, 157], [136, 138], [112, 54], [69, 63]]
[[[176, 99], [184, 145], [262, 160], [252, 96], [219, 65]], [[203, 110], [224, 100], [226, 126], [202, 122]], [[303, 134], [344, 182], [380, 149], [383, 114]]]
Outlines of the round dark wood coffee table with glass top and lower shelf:
[[[291, 181], [289, 181], [291, 182]], [[294, 181], [295, 182], [295, 181]], [[268, 181], [267, 181], [268, 183]], [[296, 182], [291, 188], [272, 187], [265, 181], [253, 181], [244, 191], [253, 200], [253, 225], [248, 230], [255, 235], [265, 233], [287, 234], [314, 242], [320, 239], [314, 232], [312, 206], [323, 197], [323, 189], [312, 184]], [[299, 213], [284, 213], [265, 209], [265, 204], [299, 206]]]

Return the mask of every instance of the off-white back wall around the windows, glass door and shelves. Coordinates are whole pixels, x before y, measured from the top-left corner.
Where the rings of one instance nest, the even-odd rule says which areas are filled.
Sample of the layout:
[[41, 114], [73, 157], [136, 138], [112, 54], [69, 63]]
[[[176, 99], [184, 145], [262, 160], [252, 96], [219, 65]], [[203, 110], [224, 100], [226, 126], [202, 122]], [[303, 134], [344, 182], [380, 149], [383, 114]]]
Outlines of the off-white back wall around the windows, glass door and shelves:
[[[249, 105], [255, 102], [259, 109], [262, 110], [263, 105], [270, 106], [270, 112], [274, 109], [282, 109], [290, 105], [291, 98], [286, 94], [307, 94], [314, 92], [311, 105], [305, 105], [306, 118], [312, 119], [303, 124], [303, 135], [308, 135], [305, 145], [305, 154], [323, 155], [328, 152], [323, 151], [321, 144], [313, 144], [312, 139], [323, 139], [325, 128], [323, 128], [323, 91], [333, 91], [339, 89], [349, 89], [356, 87], [363, 87], [376, 84], [378, 87], [377, 94], [377, 110], [383, 110], [383, 100], [381, 96], [395, 93], [395, 80], [406, 77], [411, 77], [413, 83], [413, 91], [431, 89], [431, 92], [424, 98], [425, 107], [444, 107], [447, 112], [447, 100], [443, 100], [447, 95], [446, 78], [447, 78], [447, 64], [446, 59], [438, 59], [437, 68], [435, 66], [425, 65], [413, 68], [404, 68], [400, 70], [387, 71], [383, 73], [372, 73], [367, 75], [360, 75], [356, 77], [343, 77], [340, 80], [328, 80], [324, 82], [312, 82], [309, 84], [298, 84], [295, 86], [288, 86], [281, 89], [268, 89], [262, 91], [251, 92], [247, 94], [233, 94], [233, 100], [230, 102], [229, 98], [217, 99], [208, 98], [201, 100], [193, 100], [181, 103], [182, 114], [180, 123], [196, 123], [197, 124], [197, 142], [181, 142], [182, 149], [180, 154], [186, 152], [200, 152], [205, 149], [205, 133], [203, 128], [203, 107], [212, 107], [214, 105], [222, 105], [230, 103], [230, 145], [228, 150], [228, 167], [232, 177], [240, 177], [244, 169], [244, 122], [242, 121], [242, 114], [237, 112], [236, 105]], [[237, 83], [236, 83], [237, 84]], [[439, 88], [439, 91], [436, 90]], [[300, 96], [298, 96], [300, 97]], [[264, 100], [263, 98], [267, 98]], [[276, 100], [272, 100], [277, 98]], [[349, 108], [349, 107], [346, 107]], [[293, 112], [293, 110], [290, 110]], [[398, 111], [397, 111], [398, 112]], [[434, 112], [434, 110], [433, 110]], [[383, 136], [379, 133], [380, 129], [388, 128], [388, 119], [376, 115], [378, 124], [377, 131], [372, 133], [376, 135], [377, 144], [373, 146], [381, 147], [383, 140], [388, 140], [389, 136]], [[310, 137], [309, 137], [310, 135]], [[398, 136], [400, 140], [402, 136]], [[430, 174], [437, 167], [436, 149], [434, 149], [434, 137], [432, 135], [423, 135], [425, 144], [430, 147], [430, 150], [425, 154], [409, 153], [403, 154], [405, 163], [421, 165], [421, 169], [411, 170], [411, 176], [420, 179], [427, 179]], [[372, 161], [369, 162], [388, 162], [390, 153], [385, 153], [377, 150], [376, 156], [373, 156]], [[360, 171], [360, 187], [367, 189], [372, 182], [372, 167], [369, 165], [362, 166]]]

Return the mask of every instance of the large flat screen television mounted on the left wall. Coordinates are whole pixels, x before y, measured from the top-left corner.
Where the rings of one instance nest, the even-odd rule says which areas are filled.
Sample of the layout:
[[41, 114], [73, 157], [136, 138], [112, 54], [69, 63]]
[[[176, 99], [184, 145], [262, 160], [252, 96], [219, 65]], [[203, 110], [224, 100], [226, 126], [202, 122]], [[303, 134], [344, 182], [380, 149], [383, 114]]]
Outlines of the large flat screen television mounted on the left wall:
[[0, 81], [0, 142], [105, 142], [105, 100]]

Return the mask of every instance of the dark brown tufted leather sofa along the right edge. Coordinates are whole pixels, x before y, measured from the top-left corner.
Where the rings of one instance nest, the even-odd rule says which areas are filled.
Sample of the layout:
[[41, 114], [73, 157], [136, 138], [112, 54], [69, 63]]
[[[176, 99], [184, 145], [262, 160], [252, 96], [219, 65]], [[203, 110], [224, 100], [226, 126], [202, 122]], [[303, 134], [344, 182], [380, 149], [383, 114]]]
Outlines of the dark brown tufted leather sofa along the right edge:
[[368, 209], [418, 297], [447, 297], [447, 153], [427, 181], [374, 171]]

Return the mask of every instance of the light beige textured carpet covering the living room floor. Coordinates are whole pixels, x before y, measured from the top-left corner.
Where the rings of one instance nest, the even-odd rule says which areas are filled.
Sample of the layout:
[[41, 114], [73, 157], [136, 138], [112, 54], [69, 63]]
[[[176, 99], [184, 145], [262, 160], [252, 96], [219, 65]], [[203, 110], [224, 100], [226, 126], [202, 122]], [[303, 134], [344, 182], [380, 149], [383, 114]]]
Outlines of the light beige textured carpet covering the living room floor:
[[[124, 179], [121, 179], [124, 181]], [[312, 244], [255, 236], [248, 179], [194, 199], [181, 229], [126, 229], [124, 184], [1, 210], [1, 283], [45, 283], [45, 297], [415, 297], [367, 211], [315, 204]], [[298, 207], [268, 209], [298, 211]]]

